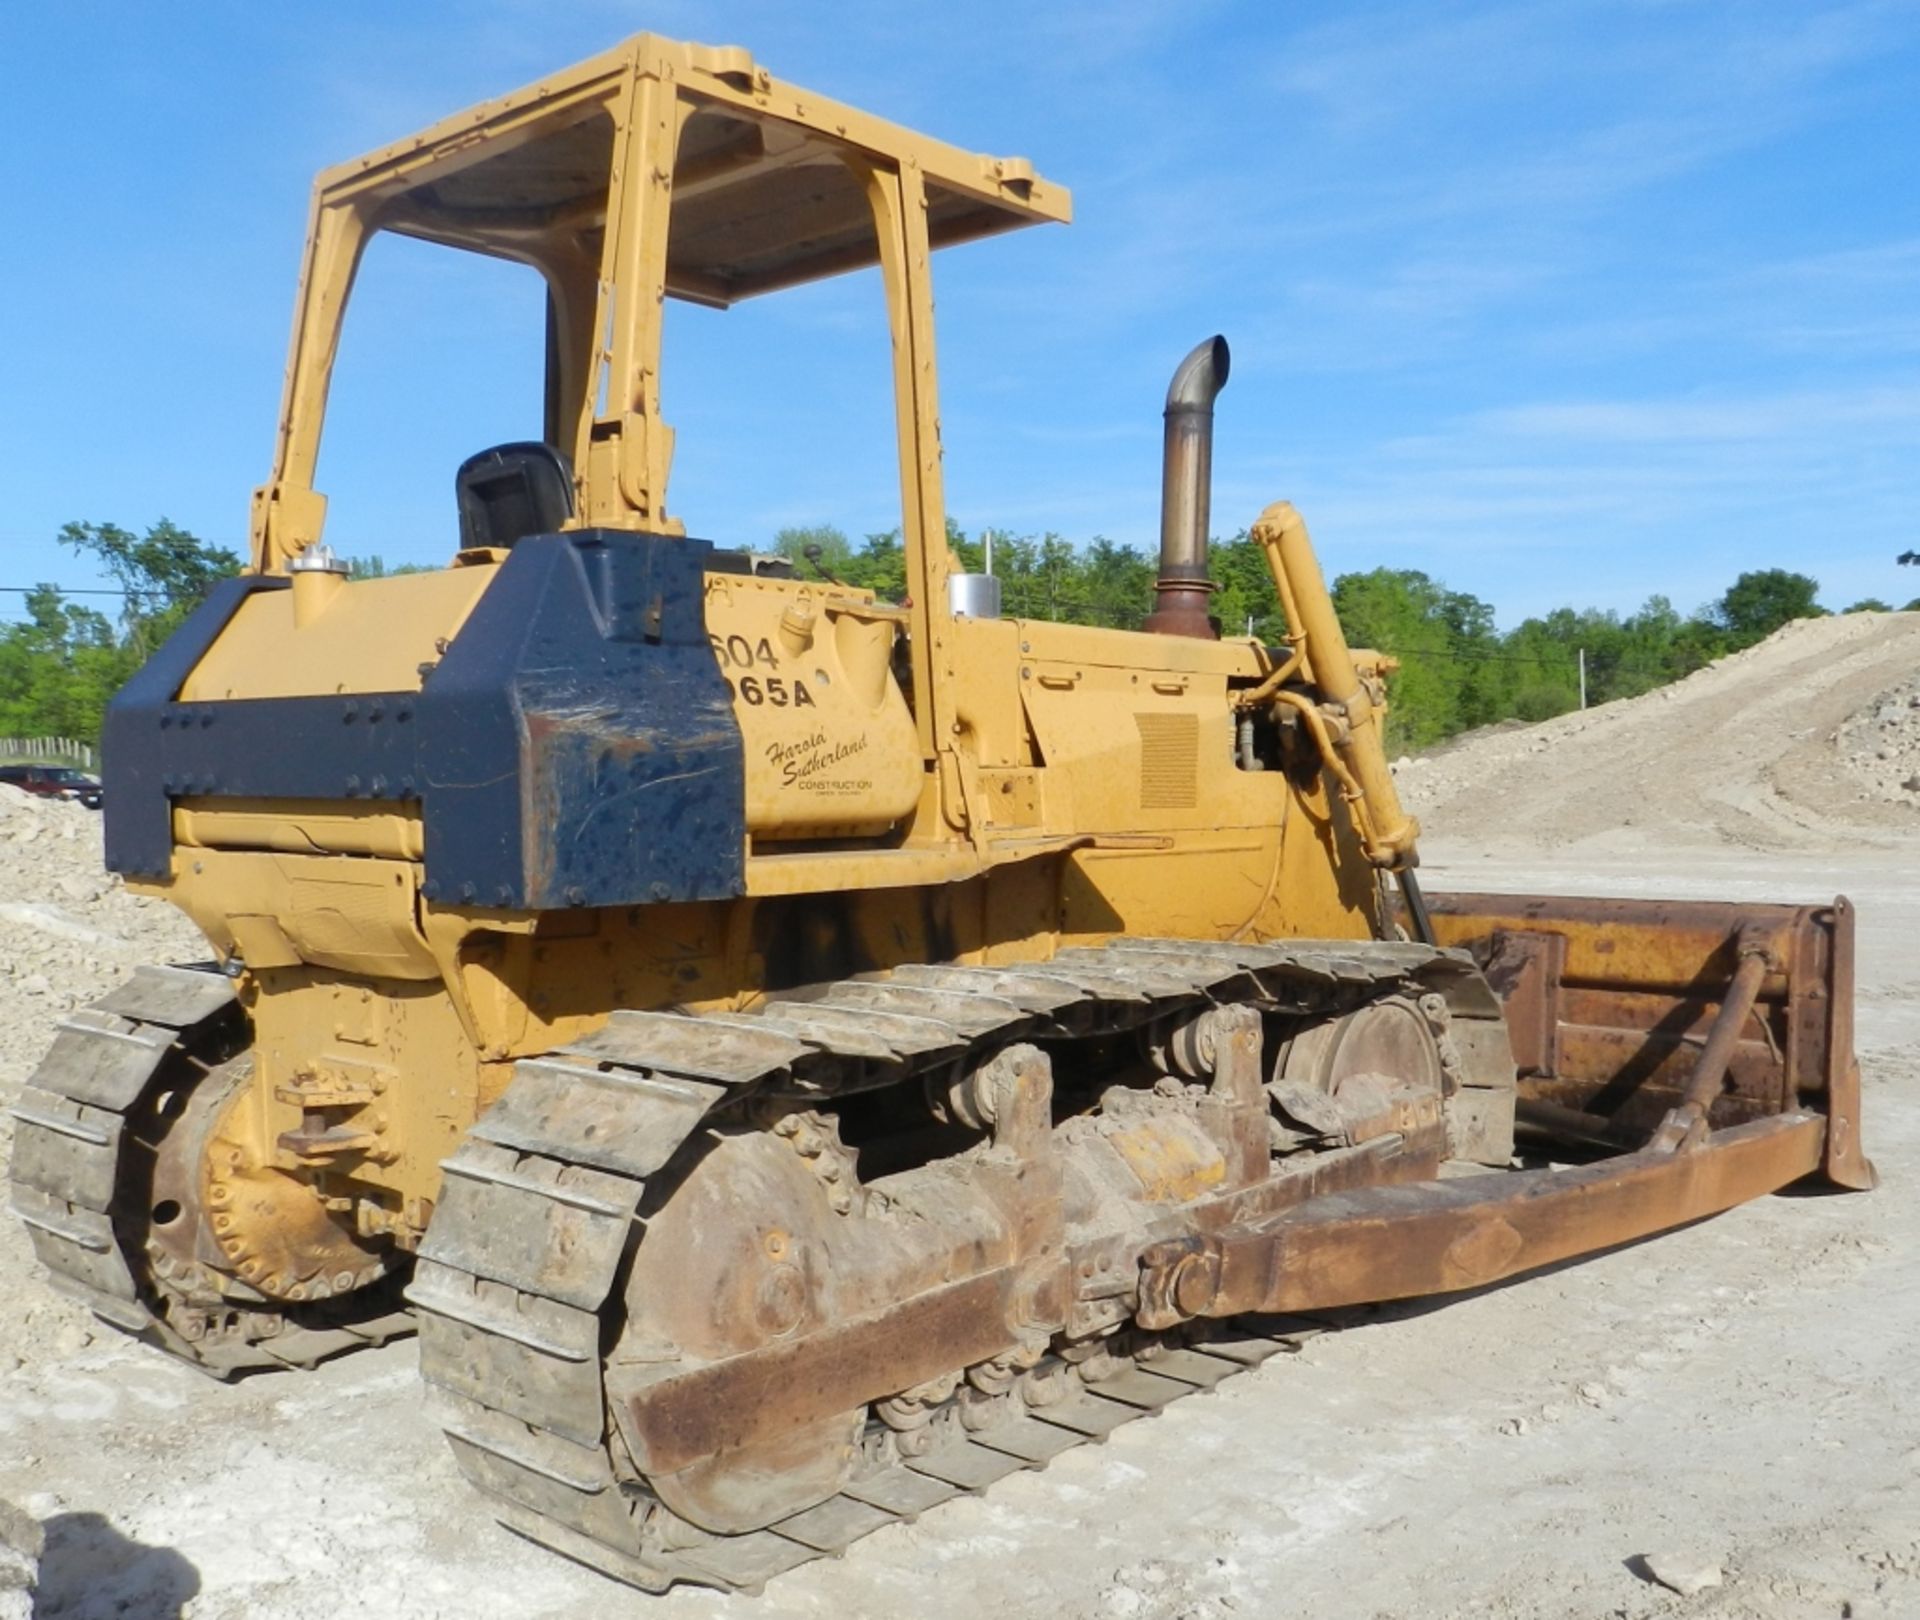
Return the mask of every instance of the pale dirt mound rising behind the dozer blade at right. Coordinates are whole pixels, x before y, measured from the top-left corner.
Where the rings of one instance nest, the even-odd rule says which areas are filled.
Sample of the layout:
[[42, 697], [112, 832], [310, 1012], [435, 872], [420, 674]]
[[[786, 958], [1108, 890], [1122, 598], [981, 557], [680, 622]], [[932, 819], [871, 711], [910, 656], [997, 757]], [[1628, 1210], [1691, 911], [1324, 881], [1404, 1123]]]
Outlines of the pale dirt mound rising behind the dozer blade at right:
[[1920, 612], [1801, 620], [1645, 697], [1402, 760], [1400, 791], [1442, 858], [1903, 843], [1920, 833], [1916, 672]]

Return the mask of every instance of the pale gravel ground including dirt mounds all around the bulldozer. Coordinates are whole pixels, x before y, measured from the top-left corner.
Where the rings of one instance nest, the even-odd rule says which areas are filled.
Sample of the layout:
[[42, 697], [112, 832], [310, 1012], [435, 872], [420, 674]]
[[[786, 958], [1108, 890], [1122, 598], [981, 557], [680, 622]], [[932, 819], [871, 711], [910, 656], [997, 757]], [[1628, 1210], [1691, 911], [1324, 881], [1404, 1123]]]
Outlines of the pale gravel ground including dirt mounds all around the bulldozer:
[[[497, 1530], [420, 1411], [409, 1344], [219, 1386], [94, 1330], [4, 1223], [0, 1497], [44, 1532], [35, 1612], [1920, 1614], [1920, 793], [1893, 779], [1916, 666], [1916, 614], [1795, 626], [1667, 695], [1402, 770], [1432, 889], [1849, 893], [1878, 1194], [1761, 1200], [1380, 1311], [760, 1599], [647, 1599]], [[61, 1010], [198, 941], [98, 877], [98, 818], [13, 795], [0, 896], [6, 1104]], [[1680, 1595], [1651, 1570], [1718, 1584]]]

